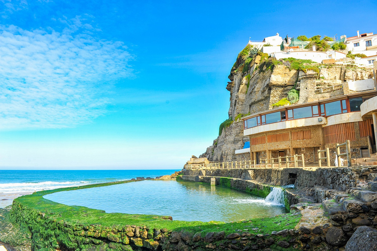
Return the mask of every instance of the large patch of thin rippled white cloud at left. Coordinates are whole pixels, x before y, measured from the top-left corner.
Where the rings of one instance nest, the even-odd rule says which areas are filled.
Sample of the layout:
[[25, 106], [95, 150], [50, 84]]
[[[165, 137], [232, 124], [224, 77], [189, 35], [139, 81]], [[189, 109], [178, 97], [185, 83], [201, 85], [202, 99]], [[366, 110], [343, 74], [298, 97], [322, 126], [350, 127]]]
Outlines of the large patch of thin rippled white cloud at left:
[[106, 112], [102, 95], [132, 76], [121, 42], [97, 39], [81, 17], [66, 28], [24, 30], [0, 25], [0, 128], [60, 128]]

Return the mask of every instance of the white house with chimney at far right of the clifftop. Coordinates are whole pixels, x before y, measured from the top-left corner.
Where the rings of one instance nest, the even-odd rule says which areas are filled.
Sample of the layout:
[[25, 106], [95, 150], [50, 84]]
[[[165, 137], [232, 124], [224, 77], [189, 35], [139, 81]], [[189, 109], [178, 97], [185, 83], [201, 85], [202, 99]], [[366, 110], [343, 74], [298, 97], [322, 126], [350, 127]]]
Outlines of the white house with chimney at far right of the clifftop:
[[[371, 55], [376, 55], [377, 34], [373, 34], [373, 32], [360, 34], [360, 32], [357, 31], [357, 36], [347, 38], [346, 45], [347, 45], [347, 50], [352, 51], [353, 54], [361, 53], [363, 51], [364, 54], [372, 53]], [[370, 53], [369, 51], [372, 51], [372, 52]]]

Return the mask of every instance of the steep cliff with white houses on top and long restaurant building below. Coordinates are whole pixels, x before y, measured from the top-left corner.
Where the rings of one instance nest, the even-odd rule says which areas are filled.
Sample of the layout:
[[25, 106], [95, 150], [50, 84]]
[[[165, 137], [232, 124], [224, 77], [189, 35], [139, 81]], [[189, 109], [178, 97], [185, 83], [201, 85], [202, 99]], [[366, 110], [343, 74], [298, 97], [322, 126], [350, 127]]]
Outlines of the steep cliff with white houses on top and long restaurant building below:
[[298, 38], [248, 42], [226, 87], [229, 119], [185, 168], [377, 164], [377, 34]]

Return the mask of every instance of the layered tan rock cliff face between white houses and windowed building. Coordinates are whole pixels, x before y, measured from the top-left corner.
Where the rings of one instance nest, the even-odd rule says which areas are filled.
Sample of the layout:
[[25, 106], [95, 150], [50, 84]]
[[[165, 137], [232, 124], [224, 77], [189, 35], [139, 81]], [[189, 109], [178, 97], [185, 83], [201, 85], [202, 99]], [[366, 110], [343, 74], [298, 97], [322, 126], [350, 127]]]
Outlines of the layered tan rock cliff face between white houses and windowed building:
[[[246, 49], [247, 47], [244, 50]], [[226, 86], [230, 91], [228, 115], [233, 123], [228, 127], [224, 126], [214, 144], [199, 156], [210, 161], [239, 160], [236, 159], [235, 150], [242, 149], [244, 143], [249, 140], [247, 136], [243, 136], [241, 117], [273, 109], [273, 104], [287, 97], [293, 103], [305, 103], [349, 94], [352, 91], [348, 89], [348, 81], [373, 76], [372, 69], [323, 65], [292, 58], [275, 60], [261, 52], [254, 56], [242, 55], [242, 52], [231, 69], [228, 76], [230, 81]], [[340, 90], [315, 95], [318, 89], [340, 84]], [[297, 100], [289, 98], [288, 93], [291, 90], [299, 93]], [[246, 155], [244, 158], [249, 158]]]

